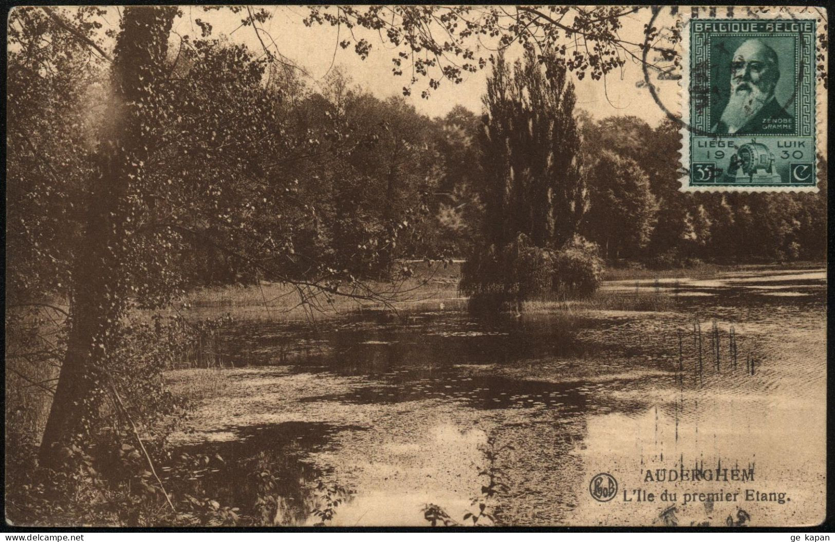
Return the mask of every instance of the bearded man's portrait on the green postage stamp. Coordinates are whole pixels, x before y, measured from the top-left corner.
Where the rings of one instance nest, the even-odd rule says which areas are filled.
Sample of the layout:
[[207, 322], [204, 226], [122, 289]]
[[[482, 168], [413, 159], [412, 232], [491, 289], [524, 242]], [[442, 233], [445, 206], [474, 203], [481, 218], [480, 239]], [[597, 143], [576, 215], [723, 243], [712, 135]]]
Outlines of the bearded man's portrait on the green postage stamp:
[[721, 119], [711, 131], [715, 134], [792, 132], [794, 117], [774, 95], [781, 78], [777, 52], [762, 39], [749, 39], [736, 49], [730, 68], [731, 94]]

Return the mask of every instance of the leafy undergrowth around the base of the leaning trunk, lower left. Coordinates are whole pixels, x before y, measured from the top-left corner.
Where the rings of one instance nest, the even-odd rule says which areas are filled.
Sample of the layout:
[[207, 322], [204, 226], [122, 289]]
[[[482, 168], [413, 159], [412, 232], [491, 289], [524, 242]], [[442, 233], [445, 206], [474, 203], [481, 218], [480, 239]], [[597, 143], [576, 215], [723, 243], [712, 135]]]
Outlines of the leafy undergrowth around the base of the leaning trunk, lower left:
[[[23, 324], [27, 322], [28, 327], [39, 327], [39, 333], [35, 335], [48, 336], [62, 349], [64, 347], [63, 327], [56, 330], [54, 324], [47, 326], [46, 322], [53, 320], [38, 317], [38, 314], [30, 315], [28, 319], [7, 315], [7, 330], [19, 343], [15, 352], [23, 357], [29, 357], [29, 352], [43, 350], [43, 342], [23, 333], [26, 331], [22, 330], [26, 327]], [[99, 386], [91, 393], [89, 400], [93, 407], [83, 433], [75, 441], [64, 443], [63, 463], [58, 469], [38, 465], [38, 436], [43, 433], [45, 418], [38, 418], [38, 423], [33, 423], [33, 413], [28, 410], [39, 408], [39, 405], [17, 401], [12, 408], [7, 404], [6, 416], [11, 422], [6, 435], [9, 444], [8, 519], [15, 524], [29, 525], [117, 526], [190, 524], [191, 521], [230, 524], [236, 521], [233, 509], [207, 506], [206, 502], [215, 502], [209, 496], [201, 497], [203, 500], [197, 509], [185, 500], [179, 502], [176, 504], [178, 512], [188, 514], [174, 514], [166, 503], [159, 480], [150, 472], [148, 459], [150, 457], [157, 467], [167, 463], [170, 470], [165, 485], [169, 491], [175, 489], [172, 486], [176, 484], [186, 484], [183, 481], [194, 476], [195, 471], [207, 468], [205, 462], [182, 468], [171, 463], [172, 448], [167, 437], [179, 427], [188, 405], [184, 399], [170, 393], [163, 372], [188, 357], [195, 345], [202, 343], [202, 334], [224, 322], [226, 319], [222, 317], [190, 323], [179, 316], [143, 317], [141, 314], [119, 322], [114, 329], [117, 334], [115, 346], [109, 352], [107, 364], [98, 367], [95, 373]], [[62, 349], [53, 354], [54, 360], [41, 361], [44, 364], [59, 362], [63, 357]], [[23, 373], [23, 376], [28, 377], [28, 374]], [[47, 384], [52, 382], [46, 373], [32, 374]], [[43, 386], [47, 388], [46, 384]], [[46, 404], [48, 406], [48, 402]], [[138, 436], [142, 439], [141, 445]], [[182, 496], [182, 492], [178, 493]], [[172, 495], [169, 496], [174, 499]]]

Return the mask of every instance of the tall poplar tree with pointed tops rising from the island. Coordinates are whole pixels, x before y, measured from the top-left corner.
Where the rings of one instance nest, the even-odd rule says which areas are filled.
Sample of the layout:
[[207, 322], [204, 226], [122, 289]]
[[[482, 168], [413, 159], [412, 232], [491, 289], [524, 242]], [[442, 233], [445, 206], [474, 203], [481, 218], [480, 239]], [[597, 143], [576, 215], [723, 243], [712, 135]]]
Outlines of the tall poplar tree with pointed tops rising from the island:
[[574, 84], [564, 63], [528, 51], [511, 70], [499, 55], [483, 103], [488, 244], [501, 246], [524, 234], [534, 246], [559, 248], [588, 206]]

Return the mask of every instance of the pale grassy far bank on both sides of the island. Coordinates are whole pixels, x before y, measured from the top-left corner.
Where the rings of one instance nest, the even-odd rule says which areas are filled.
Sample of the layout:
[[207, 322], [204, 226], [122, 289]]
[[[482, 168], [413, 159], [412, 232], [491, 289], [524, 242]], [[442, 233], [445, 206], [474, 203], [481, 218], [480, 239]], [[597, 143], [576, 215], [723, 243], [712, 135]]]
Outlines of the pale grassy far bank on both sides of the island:
[[[682, 269], [654, 270], [638, 266], [609, 267], [605, 281], [640, 282], [635, 291], [607, 291], [605, 288], [584, 300], [546, 298], [527, 301], [524, 310], [543, 311], [667, 311], [675, 300], [670, 292], [653, 284], [675, 279], [709, 279], [728, 272], [794, 270], [819, 267], [820, 262], [790, 264], [733, 265], [701, 264]], [[411, 264], [414, 275], [395, 281], [369, 281], [365, 286], [343, 290], [348, 296], [326, 296], [306, 286], [262, 281], [251, 286], [212, 286], [198, 288], [171, 309], [188, 318], [202, 319], [229, 315], [235, 320], [296, 321], [340, 317], [347, 312], [417, 311], [464, 309], [467, 299], [458, 291], [461, 266], [424, 262]], [[657, 286], [657, 283], [655, 284]], [[669, 285], [667, 285], [669, 286]]]

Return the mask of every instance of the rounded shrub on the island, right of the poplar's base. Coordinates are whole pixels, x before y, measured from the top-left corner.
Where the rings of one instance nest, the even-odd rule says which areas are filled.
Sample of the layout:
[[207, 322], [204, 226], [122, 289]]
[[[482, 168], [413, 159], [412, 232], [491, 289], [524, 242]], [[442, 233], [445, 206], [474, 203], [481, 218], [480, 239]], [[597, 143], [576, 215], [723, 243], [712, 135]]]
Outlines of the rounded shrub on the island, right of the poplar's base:
[[596, 243], [574, 235], [554, 258], [553, 289], [561, 297], [588, 297], [603, 281]]

